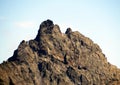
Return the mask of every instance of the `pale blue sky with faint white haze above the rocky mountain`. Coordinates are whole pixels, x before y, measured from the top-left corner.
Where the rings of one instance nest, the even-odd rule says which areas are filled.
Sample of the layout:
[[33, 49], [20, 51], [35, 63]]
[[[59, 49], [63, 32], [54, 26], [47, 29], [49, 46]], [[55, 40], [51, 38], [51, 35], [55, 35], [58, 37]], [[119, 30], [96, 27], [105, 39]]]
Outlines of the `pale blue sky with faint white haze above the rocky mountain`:
[[0, 0], [0, 62], [34, 39], [46, 19], [91, 38], [120, 68], [120, 0]]

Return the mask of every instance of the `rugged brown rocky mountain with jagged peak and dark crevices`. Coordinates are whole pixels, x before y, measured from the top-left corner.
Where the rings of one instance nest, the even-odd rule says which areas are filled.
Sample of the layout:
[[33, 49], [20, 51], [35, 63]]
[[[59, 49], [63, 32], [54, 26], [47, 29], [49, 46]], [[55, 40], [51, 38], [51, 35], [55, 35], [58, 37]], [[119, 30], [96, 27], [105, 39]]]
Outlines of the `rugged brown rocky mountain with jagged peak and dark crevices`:
[[120, 70], [91, 39], [51, 20], [0, 64], [0, 85], [119, 85]]

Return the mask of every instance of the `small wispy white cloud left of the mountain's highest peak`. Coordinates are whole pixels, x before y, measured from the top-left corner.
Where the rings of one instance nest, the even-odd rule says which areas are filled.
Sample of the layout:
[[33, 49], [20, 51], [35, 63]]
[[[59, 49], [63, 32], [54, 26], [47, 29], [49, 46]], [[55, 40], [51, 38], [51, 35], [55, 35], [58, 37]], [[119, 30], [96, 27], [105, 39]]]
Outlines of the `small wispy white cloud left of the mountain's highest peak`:
[[29, 28], [35, 26], [35, 22], [33, 21], [21, 21], [21, 22], [15, 22], [15, 26], [21, 27], [21, 28]]

